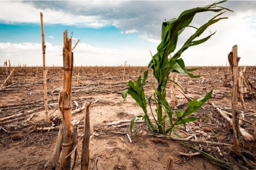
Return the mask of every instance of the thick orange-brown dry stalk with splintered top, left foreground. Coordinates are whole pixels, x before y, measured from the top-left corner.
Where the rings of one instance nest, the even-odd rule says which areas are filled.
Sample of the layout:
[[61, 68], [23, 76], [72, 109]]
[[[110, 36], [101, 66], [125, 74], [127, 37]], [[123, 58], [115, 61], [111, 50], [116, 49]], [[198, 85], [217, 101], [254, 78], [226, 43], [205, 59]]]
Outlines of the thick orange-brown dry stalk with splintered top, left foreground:
[[64, 47], [63, 47], [63, 90], [60, 93], [59, 108], [65, 122], [66, 132], [63, 135], [62, 143], [62, 169], [71, 169], [71, 157], [66, 158], [70, 153], [72, 145], [72, 125], [71, 125], [71, 80], [73, 71], [73, 52], [72, 52], [72, 38], [68, 38], [68, 31], [64, 32]]

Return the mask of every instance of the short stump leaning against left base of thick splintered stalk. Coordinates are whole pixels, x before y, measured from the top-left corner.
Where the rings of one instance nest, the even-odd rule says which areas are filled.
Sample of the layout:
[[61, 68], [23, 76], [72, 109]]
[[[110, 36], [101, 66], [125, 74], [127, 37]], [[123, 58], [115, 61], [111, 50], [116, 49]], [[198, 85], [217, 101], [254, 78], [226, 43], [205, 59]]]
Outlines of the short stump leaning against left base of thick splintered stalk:
[[52, 161], [52, 169], [56, 169], [56, 167], [58, 166], [58, 161], [60, 158], [60, 154], [61, 154], [61, 144], [62, 144], [62, 136], [65, 133], [65, 129], [64, 129], [64, 125], [65, 123], [62, 122], [60, 130], [59, 130], [59, 134], [58, 134], [58, 138], [55, 144], [55, 148], [54, 148], [54, 152], [53, 152], [53, 161]]

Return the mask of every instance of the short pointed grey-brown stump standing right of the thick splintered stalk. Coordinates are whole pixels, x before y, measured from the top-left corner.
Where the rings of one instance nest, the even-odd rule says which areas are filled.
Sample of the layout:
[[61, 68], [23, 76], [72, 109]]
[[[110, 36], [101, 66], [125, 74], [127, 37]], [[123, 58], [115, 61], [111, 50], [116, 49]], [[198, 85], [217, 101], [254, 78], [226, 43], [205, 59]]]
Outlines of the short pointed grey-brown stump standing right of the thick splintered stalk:
[[82, 146], [81, 169], [88, 170], [89, 168], [89, 142], [90, 142], [90, 105], [85, 105], [84, 110], [84, 137]]

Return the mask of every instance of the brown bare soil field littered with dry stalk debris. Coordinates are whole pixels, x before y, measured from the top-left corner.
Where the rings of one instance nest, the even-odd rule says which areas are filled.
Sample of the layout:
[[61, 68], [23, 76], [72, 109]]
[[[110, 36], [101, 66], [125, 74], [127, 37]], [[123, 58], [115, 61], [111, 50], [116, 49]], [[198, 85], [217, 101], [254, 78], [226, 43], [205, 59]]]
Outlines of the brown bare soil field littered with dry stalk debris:
[[[47, 125], [45, 122], [42, 68], [38, 70], [37, 78], [35, 78], [35, 69], [35, 67], [27, 68], [26, 73], [25, 67], [16, 67], [12, 81], [8, 81], [3, 86], [7, 87], [0, 89], [0, 169], [51, 169], [58, 131], [40, 131], [38, 128], [51, 127], [53, 123], [54, 126], [60, 125], [61, 115], [57, 109], [51, 115], [52, 123]], [[216, 162], [211, 162], [201, 155], [181, 156], [180, 152], [196, 151], [178, 141], [153, 137], [144, 123], [137, 123], [133, 134], [129, 132], [129, 122], [121, 121], [131, 120], [134, 116], [142, 115], [143, 111], [131, 96], [122, 103], [121, 92], [127, 88], [128, 80], [137, 80], [140, 69], [141, 67], [126, 67], [123, 79], [123, 67], [74, 68], [72, 110], [82, 107], [89, 101], [97, 101], [90, 108], [90, 122], [95, 132], [90, 140], [90, 169], [97, 160], [99, 170], [164, 170], [169, 156], [174, 158], [173, 169], [177, 170], [223, 169], [224, 167], [217, 166]], [[255, 71], [255, 67], [248, 67], [246, 72], [254, 85], [256, 85]], [[176, 75], [176, 80], [184, 88], [186, 95], [191, 98], [202, 97], [213, 88], [214, 93], [210, 102], [231, 113], [231, 88], [224, 84], [225, 74], [228, 74], [228, 79], [231, 80], [230, 68], [202, 67], [201, 70], [195, 71], [195, 74], [201, 75], [201, 78], [191, 79], [188, 76]], [[152, 76], [149, 77], [154, 80]], [[5, 68], [0, 68], [0, 85], [5, 79]], [[62, 83], [62, 69], [49, 67], [47, 80], [49, 114], [58, 107]], [[147, 95], [153, 95], [149, 82], [145, 89]], [[188, 101], [179, 91], [176, 91], [176, 97], [178, 109], [184, 109]], [[75, 101], [79, 104], [78, 107]], [[256, 120], [255, 101], [253, 94], [246, 98], [246, 110], [242, 109], [240, 102], [238, 103], [238, 110], [244, 113], [246, 120], [242, 121], [240, 126], [250, 134], [253, 134], [252, 123]], [[15, 117], [15, 115], [20, 116]], [[13, 117], [6, 118], [8, 116]], [[186, 138], [194, 135], [191, 139], [233, 144], [233, 133], [229, 123], [212, 105], [204, 105], [194, 116], [201, 119], [188, 123], [186, 129], [180, 126], [177, 130], [180, 136]], [[80, 125], [83, 125], [83, 118], [83, 111], [72, 115], [72, 119], [81, 120]], [[109, 125], [113, 121], [120, 123]], [[82, 136], [83, 129], [79, 129], [78, 134]], [[132, 143], [127, 134], [131, 136]], [[246, 167], [238, 161], [230, 147], [193, 142], [187, 144], [225, 162], [235, 164], [241, 169]], [[78, 150], [79, 157], [75, 169], [80, 169], [81, 142]]]

